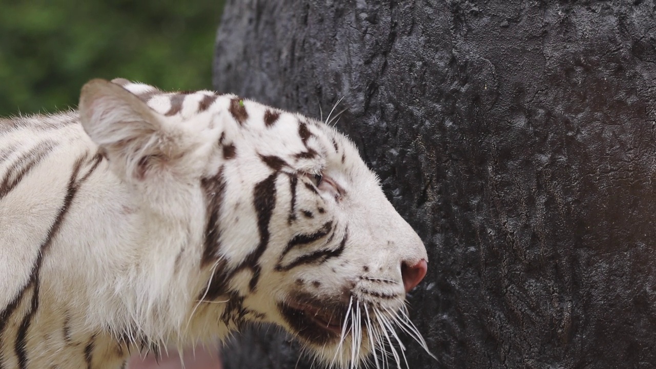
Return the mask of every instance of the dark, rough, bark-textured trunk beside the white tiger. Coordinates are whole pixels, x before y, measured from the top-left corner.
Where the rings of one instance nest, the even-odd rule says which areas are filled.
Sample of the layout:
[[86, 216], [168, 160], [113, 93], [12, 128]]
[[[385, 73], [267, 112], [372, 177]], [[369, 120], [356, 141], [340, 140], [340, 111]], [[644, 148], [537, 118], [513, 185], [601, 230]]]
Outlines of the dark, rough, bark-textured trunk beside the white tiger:
[[[653, 1], [240, 0], [214, 83], [316, 117], [344, 97], [428, 248], [409, 299], [440, 362], [409, 342], [410, 368], [652, 368], [655, 45]], [[226, 368], [294, 367], [250, 344]]]

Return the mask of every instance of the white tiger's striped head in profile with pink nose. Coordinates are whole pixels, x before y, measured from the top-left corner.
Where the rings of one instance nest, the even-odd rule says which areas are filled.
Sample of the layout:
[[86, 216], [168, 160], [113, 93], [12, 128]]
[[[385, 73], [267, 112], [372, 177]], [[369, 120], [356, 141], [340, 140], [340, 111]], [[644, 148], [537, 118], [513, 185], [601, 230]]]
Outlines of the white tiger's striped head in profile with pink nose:
[[122, 79], [87, 83], [80, 114], [148, 217], [148, 239], [168, 235], [140, 246], [157, 255], [140, 254], [134, 268], [151, 263], [155, 276], [135, 293], [155, 293], [148, 278], [191, 290], [136, 299], [184, 306], [152, 313], [178, 315], [171, 332], [197, 339], [273, 323], [342, 367], [402, 347], [395, 328], [425, 348], [404, 303], [426, 274], [426, 250], [344, 135], [234, 95]]

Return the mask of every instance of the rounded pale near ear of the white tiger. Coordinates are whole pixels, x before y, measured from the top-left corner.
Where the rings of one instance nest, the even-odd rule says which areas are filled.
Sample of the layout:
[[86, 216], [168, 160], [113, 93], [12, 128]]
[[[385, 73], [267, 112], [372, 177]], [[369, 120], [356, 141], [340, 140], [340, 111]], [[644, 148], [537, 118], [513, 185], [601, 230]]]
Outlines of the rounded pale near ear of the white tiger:
[[123, 87], [92, 79], [82, 87], [82, 126], [119, 177], [144, 180], [182, 152], [182, 131]]

